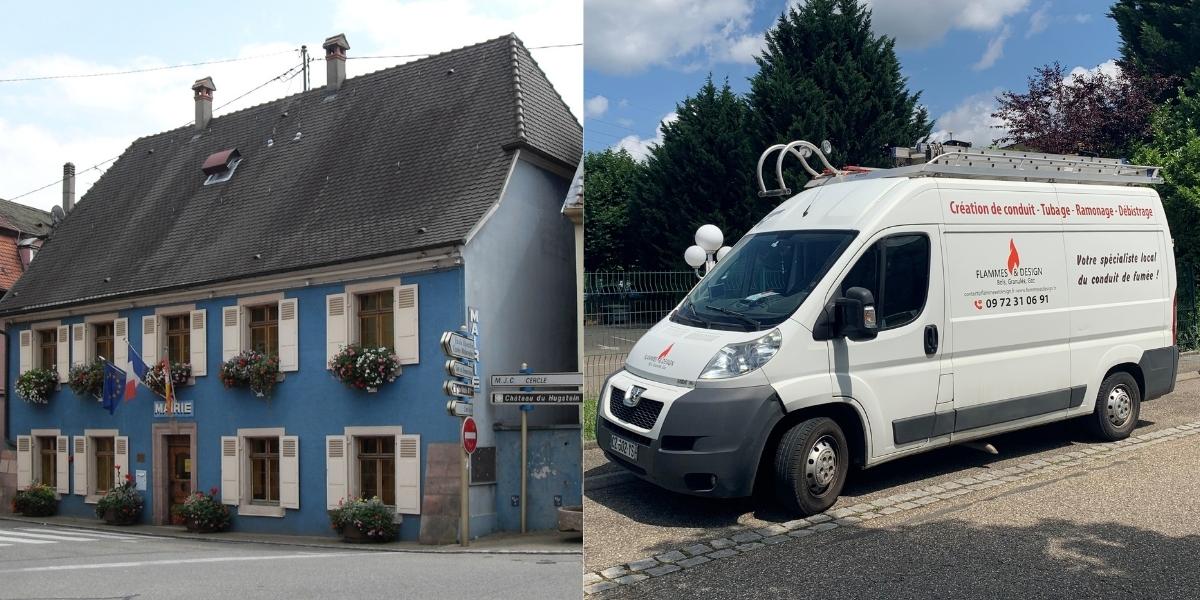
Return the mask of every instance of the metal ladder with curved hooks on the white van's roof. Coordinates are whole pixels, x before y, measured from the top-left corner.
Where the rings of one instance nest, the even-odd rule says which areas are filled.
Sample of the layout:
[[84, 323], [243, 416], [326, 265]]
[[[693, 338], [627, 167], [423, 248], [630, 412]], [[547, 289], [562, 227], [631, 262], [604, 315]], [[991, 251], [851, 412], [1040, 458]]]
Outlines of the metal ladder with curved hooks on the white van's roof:
[[[823, 144], [826, 152], [828, 145]], [[797, 150], [797, 149], [802, 150]], [[767, 190], [762, 179], [762, 167], [767, 156], [779, 151], [775, 161], [775, 179], [779, 187]], [[990, 179], [1009, 181], [1048, 181], [1066, 184], [1098, 185], [1153, 185], [1162, 184], [1159, 167], [1129, 164], [1121, 158], [1097, 158], [1091, 156], [1025, 152], [1019, 150], [992, 150], [937, 143], [918, 144], [917, 148], [894, 148], [893, 157], [898, 166], [889, 169], [854, 168], [839, 170], [829, 164], [826, 152], [809, 142], [797, 140], [791, 144], [776, 144], [768, 148], [758, 157], [758, 196], [791, 196], [792, 191], [784, 184], [784, 157], [788, 154], [798, 157], [804, 169], [812, 178], [805, 187], [857, 181], [878, 178], [920, 178], [943, 176], [962, 179]], [[808, 156], [816, 155], [824, 170], [817, 173]], [[808, 155], [808, 156], [805, 156]]]

